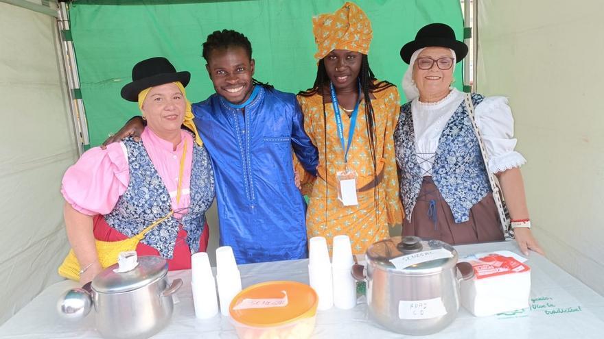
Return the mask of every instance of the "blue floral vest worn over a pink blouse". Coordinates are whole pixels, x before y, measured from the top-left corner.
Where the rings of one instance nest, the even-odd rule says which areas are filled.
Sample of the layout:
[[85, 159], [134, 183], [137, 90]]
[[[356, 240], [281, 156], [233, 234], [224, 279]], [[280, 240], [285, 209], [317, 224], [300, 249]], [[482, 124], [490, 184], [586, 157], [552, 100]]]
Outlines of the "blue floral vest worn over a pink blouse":
[[[115, 208], [104, 215], [105, 221], [125, 236], [139, 234], [145, 227], [163, 218], [172, 209], [170, 193], [157, 173], [143, 142], [132, 138], [124, 140], [128, 151], [130, 183], [119, 197]], [[195, 145], [191, 167], [191, 203], [181, 221], [170, 216], [151, 229], [142, 242], [153, 247], [163, 258], [171, 259], [182, 223], [187, 231], [187, 244], [191, 253], [199, 251], [199, 238], [205, 225], [205, 211], [214, 199], [214, 175], [205, 147]]]

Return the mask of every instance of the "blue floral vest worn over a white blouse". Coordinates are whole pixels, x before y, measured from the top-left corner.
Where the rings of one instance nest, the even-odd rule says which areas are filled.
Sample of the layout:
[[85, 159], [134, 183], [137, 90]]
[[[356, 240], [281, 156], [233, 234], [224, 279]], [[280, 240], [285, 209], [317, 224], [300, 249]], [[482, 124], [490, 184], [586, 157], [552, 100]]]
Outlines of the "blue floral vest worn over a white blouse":
[[[472, 94], [474, 106], [483, 99], [482, 95]], [[443, 129], [432, 166], [434, 184], [451, 208], [456, 223], [468, 221], [469, 209], [491, 192], [485, 162], [469, 119], [462, 102]], [[397, 164], [401, 168], [400, 196], [409, 221], [423, 180], [414, 136], [413, 114], [408, 102], [401, 106], [395, 147]]]

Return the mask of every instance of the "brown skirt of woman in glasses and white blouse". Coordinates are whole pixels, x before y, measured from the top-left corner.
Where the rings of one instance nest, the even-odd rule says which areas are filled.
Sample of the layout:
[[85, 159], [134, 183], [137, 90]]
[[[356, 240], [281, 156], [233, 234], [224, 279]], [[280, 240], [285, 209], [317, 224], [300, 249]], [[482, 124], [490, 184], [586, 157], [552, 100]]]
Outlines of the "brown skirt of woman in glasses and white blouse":
[[443, 199], [432, 177], [423, 177], [411, 221], [403, 221], [402, 236], [437, 239], [448, 244], [473, 244], [504, 240], [493, 194], [469, 210], [469, 220], [455, 223], [451, 208]]

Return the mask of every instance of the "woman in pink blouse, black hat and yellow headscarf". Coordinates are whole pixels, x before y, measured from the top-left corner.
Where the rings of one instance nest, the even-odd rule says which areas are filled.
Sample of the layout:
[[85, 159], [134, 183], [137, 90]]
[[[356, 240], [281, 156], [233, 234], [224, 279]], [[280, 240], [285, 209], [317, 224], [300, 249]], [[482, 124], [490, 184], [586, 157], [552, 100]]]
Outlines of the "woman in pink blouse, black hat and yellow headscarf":
[[[136, 64], [121, 97], [138, 102], [146, 118], [141, 140], [90, 149], [65, 173], [65, 224], [82, 268], [80, 281], [90, 281], [106, 266], [95, 240], [141, 234], [137, 253], [161, 255], [172, 270], [190, 268], [191, 253], [205, 251], [214, 179], [185, 97], [189, 78], [165, 58]], [[183, 124], [194, 133], [181, 129]]]

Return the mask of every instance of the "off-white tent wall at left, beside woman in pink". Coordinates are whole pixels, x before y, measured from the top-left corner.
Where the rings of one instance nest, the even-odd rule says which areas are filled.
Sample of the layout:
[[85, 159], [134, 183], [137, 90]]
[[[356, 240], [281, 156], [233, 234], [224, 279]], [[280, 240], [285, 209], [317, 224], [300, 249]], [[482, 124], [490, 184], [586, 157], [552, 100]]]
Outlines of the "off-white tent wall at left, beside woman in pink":
[[0, 3], [0, 324], [62, 279], [69, 248], [60, 181], [78, 148], [58, 46], [56, 18]]

